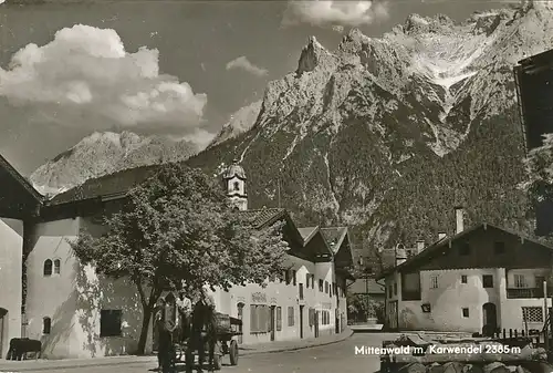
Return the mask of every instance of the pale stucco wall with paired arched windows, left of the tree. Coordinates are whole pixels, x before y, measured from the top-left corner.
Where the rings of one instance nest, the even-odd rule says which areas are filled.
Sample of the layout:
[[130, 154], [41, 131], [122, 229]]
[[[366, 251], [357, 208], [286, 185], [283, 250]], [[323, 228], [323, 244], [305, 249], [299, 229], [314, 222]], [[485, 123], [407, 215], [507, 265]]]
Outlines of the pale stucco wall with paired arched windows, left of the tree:
[[[142, 307], [136, 289], [125, 280], [98, 278], [72, 255], [67, 240], [81, 228], [94, 232], [94, 225], [76, 218], [40, 224], [34, 230], [28, 258], [28, 336], [43, 341], [43, 355], [93, 358], [133, 353], [142, 325]], [[61, 271], [43, 276], [46, 259], [61, 259]], [[100, 311], [123, 311], [123, 335], [100, 336]], [[42, 333], [43, 318], [52, 320], [51, 333]], [[146, 344], [147, 348], [152, 343]]]

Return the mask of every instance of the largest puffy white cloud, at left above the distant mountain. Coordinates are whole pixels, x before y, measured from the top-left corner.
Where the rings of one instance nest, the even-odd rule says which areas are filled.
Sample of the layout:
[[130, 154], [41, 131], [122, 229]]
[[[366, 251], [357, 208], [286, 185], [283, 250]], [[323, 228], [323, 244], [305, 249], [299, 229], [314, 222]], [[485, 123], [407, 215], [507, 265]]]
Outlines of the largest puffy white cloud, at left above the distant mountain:
[[0, 68], [0, 96], [60, 124], [196, 128], [206, 94], [160, 74], [158, 54], [145, 46], [127, 52], [114, 30], [76, 24], [58, 31], [45, 45], [28, 44], [8, 70]]

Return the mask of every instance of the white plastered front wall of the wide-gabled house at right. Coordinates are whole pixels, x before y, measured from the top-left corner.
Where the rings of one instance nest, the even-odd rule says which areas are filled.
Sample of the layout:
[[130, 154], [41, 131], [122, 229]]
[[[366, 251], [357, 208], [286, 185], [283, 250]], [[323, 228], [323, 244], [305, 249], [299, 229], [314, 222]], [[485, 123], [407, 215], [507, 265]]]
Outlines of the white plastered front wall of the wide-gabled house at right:
[[[524, 276], [526, 279], [524, 288], [517, 288], [514, 274]], [[396, 272], [386, 279], [387, 314], [388, 317], [393, 314], [390, 311], [397, 302], [399, 330], [482, 332], [487, 322], [487, 312], [490, 312], [488, 310], [491, 308], [495, 309], [497, 325], [500, 330], [512, 329], [518, 330], [519, 333], [526, 329], [541, 330], [544, 321], [543, 298], [538, 298], [541, 297], [540, 291], [534, 289], [542, 287], [535, 283], [535, 277], [545, 274], [546, 269], [507, 271], [505, 268], [488, 268], [421, 271], [421, 300], [405, 301], [400, 297], [400, 274]], [[484, 276], [492, 277], [492, 288], [484, 288]], [[465, 278], [466, 283], [463, 283]], [[394, 284], [397, 286], [397, 293], [394, 292]], [[538, 296], [535, 298], [508, 298], [508, 289], [513, 293], [530, 294], [534, 291]], [[424, 304], [430, 305], [430, 312], [424, 312]], [[547, 304], [551, 308], [551, 299], [547, 300]], [[524, 311], [529, 314], [526, 322], [523, 318], [523, 308], [533, 308]], [[542, 319], [535, 317], [536, 312], [542, 314]]]

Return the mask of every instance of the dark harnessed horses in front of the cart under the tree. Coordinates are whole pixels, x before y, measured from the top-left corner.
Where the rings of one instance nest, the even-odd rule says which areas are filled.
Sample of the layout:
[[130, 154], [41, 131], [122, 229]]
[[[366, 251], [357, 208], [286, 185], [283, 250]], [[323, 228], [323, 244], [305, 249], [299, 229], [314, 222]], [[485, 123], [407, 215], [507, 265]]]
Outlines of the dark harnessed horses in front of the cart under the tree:
[[[158, 331], [157, 359], [159, 371], [170, 372], [176, 358], [175, 345], [187, 341], [186, 370], [194, 369], [194, 351], [198, 352], [198, 372], [202, 372], [206, 349], [209, 353], [209, 366], [213, 367], [215, 346], [217, 343], [217, 323], [212, 298], [201, 291], [196, 297], [194, 308], [182, 293], [179, 299], [171, 301], [160, 298], [156, 312], [156, 328]], [[188, 304], [187, 304], [188, 303]]]

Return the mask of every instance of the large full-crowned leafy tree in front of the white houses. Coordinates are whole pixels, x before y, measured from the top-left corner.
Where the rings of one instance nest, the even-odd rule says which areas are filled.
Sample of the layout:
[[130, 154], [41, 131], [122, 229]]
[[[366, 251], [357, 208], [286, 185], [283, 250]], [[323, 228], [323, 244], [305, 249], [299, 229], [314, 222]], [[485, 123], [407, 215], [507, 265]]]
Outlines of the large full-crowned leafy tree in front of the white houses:
[[129, 191], [118, 211], [105, 217], [103, 236], [82, 232], [71, 244], [83, 265], [136, 286], [143, 308], [139, 354], [164, 290], [191, 294], [205, 286], [264, 286], [283, 271], [282, 224], [254, 227], [220, 189], [198, 169], [163, 165]]

